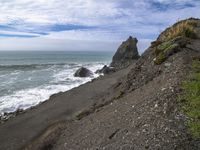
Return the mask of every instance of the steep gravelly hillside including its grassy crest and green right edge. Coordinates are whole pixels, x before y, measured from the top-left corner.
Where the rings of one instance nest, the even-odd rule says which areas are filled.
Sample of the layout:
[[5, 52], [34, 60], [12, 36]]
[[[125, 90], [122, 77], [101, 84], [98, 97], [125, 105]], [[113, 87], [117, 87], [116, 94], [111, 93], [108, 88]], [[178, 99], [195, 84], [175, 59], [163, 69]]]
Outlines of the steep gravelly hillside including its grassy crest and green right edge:
[[101, 103], [25, 149], [200, 149], [199, 33], [193, 18], [165, 30]]

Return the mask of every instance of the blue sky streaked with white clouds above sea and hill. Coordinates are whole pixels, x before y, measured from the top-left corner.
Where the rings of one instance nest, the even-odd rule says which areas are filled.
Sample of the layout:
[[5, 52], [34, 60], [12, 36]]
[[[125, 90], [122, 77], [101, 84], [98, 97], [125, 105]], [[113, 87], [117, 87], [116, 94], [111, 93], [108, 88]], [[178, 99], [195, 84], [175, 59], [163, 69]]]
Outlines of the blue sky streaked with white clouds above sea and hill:
[[178, 20], [200, 18], [200, 0], [0, 0], [0, 50], [140, 52]]

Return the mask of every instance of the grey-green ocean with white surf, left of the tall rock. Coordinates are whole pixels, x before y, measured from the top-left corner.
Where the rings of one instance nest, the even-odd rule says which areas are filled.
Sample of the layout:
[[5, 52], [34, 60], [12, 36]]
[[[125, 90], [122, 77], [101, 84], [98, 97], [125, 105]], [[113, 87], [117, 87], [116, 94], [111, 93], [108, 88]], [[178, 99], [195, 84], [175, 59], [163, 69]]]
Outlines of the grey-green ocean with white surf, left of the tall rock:
[[52, 94], [70, 90], [98, 77], [77, 78], [81, 66], [95, 72], [111, 62], [113, 52], [1, 51], [0, 115], [28, 109]]

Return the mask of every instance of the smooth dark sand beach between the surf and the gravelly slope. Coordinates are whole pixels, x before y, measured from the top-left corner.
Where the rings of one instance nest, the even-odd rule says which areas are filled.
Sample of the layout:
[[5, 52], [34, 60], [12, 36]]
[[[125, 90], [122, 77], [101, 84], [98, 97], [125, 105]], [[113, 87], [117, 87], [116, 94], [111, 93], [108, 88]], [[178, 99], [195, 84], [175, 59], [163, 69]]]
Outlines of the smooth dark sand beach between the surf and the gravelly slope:
[[54, 123], [70, 120], [78, 111], [100, 103], [101, 97], [106, 95], [109, 88], [127, 74], [128, 70], [130, 69], [55, 94], [48, 101], [0, 124], [0, 150], [20, 149]]

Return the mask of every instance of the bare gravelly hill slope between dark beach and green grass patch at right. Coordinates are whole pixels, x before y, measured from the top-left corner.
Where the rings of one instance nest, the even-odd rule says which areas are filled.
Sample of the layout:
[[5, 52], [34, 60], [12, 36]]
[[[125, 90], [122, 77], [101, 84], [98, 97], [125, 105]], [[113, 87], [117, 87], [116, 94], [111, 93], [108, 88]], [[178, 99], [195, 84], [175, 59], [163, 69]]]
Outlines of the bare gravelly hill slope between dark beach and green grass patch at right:
[[[195, 38], [182, 33], [168, 35], [177, 30], [174, 26], [187, 21], [197, 23]], [[113, 87], [116, 95], [120, 91], [120, 96], [69, 124], [53, 149], [199, 149], [200, 142], [189, 132], [177, 97], [192, 70], [193, 58], [200, 52], [200, 21], [183, 22], [163, 32]], [[169, 47], [177, 45], [156, 63], [158, 46], [169, 41]]]

